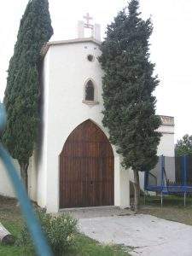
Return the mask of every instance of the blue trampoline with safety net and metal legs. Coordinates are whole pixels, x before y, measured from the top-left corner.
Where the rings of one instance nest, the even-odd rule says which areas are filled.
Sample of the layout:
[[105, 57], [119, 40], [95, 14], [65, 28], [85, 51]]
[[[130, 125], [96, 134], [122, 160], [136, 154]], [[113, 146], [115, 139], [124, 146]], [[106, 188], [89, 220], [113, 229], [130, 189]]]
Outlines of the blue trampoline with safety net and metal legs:
[[163, 195], [183, 195], [185, 206], [186, 195], [192, 194], [192, 157], [161, 155], [154, 169], [145, 172], [144, 190], [160, 194], [161, 206]]

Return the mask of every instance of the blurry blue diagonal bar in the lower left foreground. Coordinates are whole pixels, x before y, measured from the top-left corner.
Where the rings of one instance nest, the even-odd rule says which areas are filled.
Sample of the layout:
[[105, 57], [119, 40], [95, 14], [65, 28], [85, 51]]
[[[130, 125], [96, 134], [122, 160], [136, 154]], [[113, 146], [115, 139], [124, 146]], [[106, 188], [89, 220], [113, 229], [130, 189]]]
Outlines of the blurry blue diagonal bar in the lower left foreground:
[[20, 177], [15, 170], [15, 166], [12, 163], [9, 153], [3, 148], [1, 143], [0, 157], [3, 160], [3, 164], [7, 169], [11, 182], [13, 183], [15, 193], [20, 201], [20, 208], [24, 218], [26, 219], [26, 224], [31, 233], [32, 240], [34, 241], [37, 254], [39, 256], [52, 256], [53, 253], [51, 253], [41, 226], [38, 224], [38, 219], [35, 217], [35, 212], [33, 211], [31, 202], [26, 194], [26, 189], [20, 181]]

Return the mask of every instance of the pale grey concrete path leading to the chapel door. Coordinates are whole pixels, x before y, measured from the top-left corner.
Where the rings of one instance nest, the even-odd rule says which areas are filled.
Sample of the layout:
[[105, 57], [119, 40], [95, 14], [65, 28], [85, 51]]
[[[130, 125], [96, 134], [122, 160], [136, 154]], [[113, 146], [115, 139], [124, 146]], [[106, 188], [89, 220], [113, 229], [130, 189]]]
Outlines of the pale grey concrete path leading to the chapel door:
[[103, 243], [134, 247], [131, 255], [192, 255], [192, 226], [150, 215], [81, 218], [79, 230]]

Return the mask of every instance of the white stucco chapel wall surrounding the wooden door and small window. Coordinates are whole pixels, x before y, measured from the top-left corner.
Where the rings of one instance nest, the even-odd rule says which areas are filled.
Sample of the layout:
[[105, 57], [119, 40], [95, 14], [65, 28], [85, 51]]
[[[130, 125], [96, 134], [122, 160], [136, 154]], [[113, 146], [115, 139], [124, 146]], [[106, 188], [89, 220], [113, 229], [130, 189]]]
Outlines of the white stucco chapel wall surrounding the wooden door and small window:
[[[88, 54], [94, 55], [95, 61], [87, 61]], [[91, 119], [108, 136], [102, 127], [102, 69], [97, 61], [100, 54], [94, 42], [60, 44], [51, 45], [44, 60], [44, 142], [38, 166], [38, 204], [48, 212], [59, 209], [59, 155], [69, 134], [86, 119]], [[96, 84], [99, 104], [95, 106], [82, 102], [87, 79]], [[121, 178], [119, 154], [114, 148], [113, 154], [114, 204], [120, 206], [123, 202], [128, 206], [127, 188], [123, 200], [120, 193], [125, 178]], [[125, 172], [122, 173], [125, 177]]]

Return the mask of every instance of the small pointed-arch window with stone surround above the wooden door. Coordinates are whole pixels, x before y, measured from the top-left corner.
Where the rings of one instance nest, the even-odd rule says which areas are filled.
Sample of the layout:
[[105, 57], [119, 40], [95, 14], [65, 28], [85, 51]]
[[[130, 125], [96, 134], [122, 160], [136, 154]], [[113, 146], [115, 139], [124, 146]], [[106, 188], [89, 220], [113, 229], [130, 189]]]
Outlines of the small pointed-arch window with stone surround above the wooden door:
[[[91, 88], [92, 87], [92, 88]], [[86, 79], [84, 81], [84, 99], [83, 103], [87, 105], [96, 105], [98, 104], [98, 91], [96, 82], [94, 79]]]

